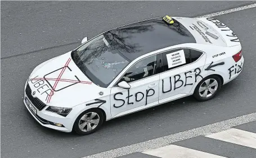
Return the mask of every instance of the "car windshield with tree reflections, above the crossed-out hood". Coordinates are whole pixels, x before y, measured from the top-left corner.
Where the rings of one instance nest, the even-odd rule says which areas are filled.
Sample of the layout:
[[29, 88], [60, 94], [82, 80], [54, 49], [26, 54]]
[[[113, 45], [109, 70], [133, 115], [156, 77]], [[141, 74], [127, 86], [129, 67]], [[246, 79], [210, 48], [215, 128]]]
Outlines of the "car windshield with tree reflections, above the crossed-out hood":
[[73, 51], [71, 57], [89, 80], [107, 87], [131, 62], [119, 52], [121, 49], [125, 48], [107, 32]]

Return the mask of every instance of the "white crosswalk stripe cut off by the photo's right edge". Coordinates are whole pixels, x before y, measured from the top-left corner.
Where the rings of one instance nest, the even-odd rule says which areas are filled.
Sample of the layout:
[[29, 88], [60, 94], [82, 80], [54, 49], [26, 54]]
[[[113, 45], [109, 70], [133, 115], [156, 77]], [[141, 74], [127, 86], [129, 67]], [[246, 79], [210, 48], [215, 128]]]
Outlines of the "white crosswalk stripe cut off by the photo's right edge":
[[213, 133], [205, 137], [256, 148], [256, 133], [243, 131], [241, 129], [231, 128], [226, 131]]

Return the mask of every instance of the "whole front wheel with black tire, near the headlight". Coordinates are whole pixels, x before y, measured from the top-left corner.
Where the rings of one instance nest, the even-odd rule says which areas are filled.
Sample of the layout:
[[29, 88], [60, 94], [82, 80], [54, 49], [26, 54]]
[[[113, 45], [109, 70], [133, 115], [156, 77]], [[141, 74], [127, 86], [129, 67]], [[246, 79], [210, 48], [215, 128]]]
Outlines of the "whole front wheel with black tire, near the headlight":
[[[104, 115], [102, 114], [102, 111], [100, 109], [88, 109], [86, 111], [83, 111], [83, 113], [81, 113], [77, 117], [73, 128], [74, 128], [74, 131], [79, 135], [88, 135], [100, 129], [103, 121], [104, 121]], [[98, 124], [96, 125], [97, 122]], [[79, 124], [80, 124], [80, 127], [82, 124], [84, 127], [80, 129]]]

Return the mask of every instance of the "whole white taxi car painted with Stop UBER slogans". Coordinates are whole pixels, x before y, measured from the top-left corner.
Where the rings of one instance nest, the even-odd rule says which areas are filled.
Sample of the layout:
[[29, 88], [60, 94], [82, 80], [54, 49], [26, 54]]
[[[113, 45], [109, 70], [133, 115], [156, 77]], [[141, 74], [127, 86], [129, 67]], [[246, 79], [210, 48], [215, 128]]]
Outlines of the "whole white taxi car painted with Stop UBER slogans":
[[24, 103], [44, 127], [90, 134], [181, 97], [212, 99], [242, 71], [235, 33], [212, 17], [157, 17], [82, 40], [35, 67]]

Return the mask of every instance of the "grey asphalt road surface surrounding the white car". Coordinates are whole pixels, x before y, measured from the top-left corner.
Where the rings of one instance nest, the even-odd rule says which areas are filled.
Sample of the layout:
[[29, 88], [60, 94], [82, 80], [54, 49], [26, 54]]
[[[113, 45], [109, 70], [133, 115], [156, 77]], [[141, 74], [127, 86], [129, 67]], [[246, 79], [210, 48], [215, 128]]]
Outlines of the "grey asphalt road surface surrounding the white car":
[[1, 156], [82, 157], [205, 126], [256, 111], [256, 8], [218, 16], [239, 36], [245, 58], [241, 75], [215, 99], [193, 97], [110, 120], [100, 131], [77, 136], [44, 128], [23, 103], [33, 68], [112, 27], [151, 17], [195, 17], [255, 3], [206, 2], [1, 2]]

